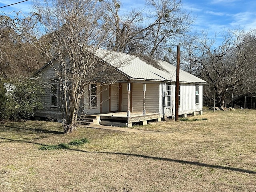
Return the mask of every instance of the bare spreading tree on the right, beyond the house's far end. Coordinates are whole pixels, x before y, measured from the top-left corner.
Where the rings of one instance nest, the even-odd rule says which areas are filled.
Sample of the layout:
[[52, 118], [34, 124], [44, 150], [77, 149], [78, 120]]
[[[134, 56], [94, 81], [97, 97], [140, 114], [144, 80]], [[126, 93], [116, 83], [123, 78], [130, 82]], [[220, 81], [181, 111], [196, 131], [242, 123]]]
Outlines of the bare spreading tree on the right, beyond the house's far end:
[[208, 82], [205, 95], [211, 97], [208, 94], [214, 90], [220, 107], [224, 107], [226, 93], [241, 84], [250, 71], [240, 49], [240, 36], [238, 31], [226, 32], [222, 45], [216, 47], [216, 39], [209, 40], [207, 34], [202, 33], [190, 49], [190, 70]]

